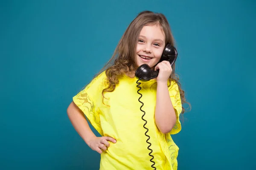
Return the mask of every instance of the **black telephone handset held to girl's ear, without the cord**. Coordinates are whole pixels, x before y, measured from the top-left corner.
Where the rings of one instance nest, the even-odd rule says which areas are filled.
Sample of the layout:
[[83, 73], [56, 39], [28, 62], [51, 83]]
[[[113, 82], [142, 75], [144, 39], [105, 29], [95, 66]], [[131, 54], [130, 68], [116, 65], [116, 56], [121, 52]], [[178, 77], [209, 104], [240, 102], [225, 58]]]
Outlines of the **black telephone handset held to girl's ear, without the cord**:
[[[169, 61], [170, 64], [172, 65], [176, 61], [177, 56], [178, 56], [178, 53], [176, 48], [168, 43], [166, 44], [163, 50], [163, 54], [159, 62], [166, 60], [166, 61]], [[159, 70], [153, 71], [147, 64], [143, 64], [143, 65], [140, 65], [139, 68], [137, 68], [135, 72], [135, 76], [137, 78], [141, 78], [142, 81], [148, 81], [150, 79], [156, 78], [158, 76], [158, 73], [159, 73]]]

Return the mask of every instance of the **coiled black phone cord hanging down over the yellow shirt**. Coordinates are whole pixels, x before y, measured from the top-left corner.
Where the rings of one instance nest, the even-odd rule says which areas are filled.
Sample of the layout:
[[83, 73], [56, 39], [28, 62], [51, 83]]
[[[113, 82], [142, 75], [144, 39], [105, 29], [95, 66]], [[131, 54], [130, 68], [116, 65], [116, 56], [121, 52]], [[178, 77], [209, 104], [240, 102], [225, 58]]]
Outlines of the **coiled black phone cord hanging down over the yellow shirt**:
[[149, 147], [151, 146], [151, 143], [148, 142], [148, 140], [150, 139], [150, 136], [147, 135], [147, 133], [148, 133], [148, 128], [145, 127], [145, 125], [147, 124], [147, 121], [143, 118], [143, 117], [145, 116], [145, 111], [143, 111], [143, 110], [141, 109], [141, 108], [143, 107], [143, 105], [144, 105], [144, 103], [140, 101], [140, 98], [142, 97], [142, 94], [139, 93], [139, 91], [141, 90], [141, 87], [140, 87], [140, 84], [141, 84], [141, 83], [140, 83], [139, 81], [140, 81], [141, 79], [142, 79], [142, 78], [138, 79], [137, 82], [136, 82], [136, 83], [138, 84], [138, 85], [137, 85], [137, 88], [139, 88], [139, 90], [137, 91], [137, 93], [140, 94], [140, 97], [139, 97], [138, 100], [139, 100], [139, 102], [142, 104], [142, 105], [140, 106], [140, 110], [144, 113], [143, 116], [141, 117], [141, 119], [143, 119], [143, 120], [145, 121], [145, 124], [143, 125], [143, 127], [146, 129], [145, 136], [148, 137], [148, 139], [146, 140], [146, 142], [149, 144], [148, 150], [150, 150], [150, 153], [148, 153], [148, 155], [152, 157], [152, 158], [150, 159], [150, 161], [153, 163], [153, 164], [151, 165], [151, 167], [154, 168], [154, 170], [156, 170], [157, 168], [154, 167], [154, 164], [156, 164], [156, 163], [155, 163], [154, 161], [152, 161], [152, 160], [154, 159], [154, 156], [151, 155], [151, 153], [153, 152], [153, 150], [149, 148]]

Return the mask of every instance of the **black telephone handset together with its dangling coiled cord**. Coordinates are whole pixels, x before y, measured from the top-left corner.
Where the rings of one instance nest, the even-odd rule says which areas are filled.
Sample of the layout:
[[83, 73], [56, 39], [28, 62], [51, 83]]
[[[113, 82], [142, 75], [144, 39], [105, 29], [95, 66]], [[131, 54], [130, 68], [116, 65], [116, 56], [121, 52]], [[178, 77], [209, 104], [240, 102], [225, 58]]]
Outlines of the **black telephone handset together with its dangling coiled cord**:
[[[176, 59], [177, 59], [177, 56], [178, 56], [178, 53], [177, 53], [177, 50], [174, 46], [172, 46], [171, 44], [166, 44], [164, 50], [163, 50], [163, 54], [160, 58], [160, 61], [159, 62], [162, 62], [163, 60], [166, 60], [166, 61], [169, 61], [170, 64], [172, 65]], [[158, 62], [158, 63], [159, 63]], [[158, 64], [157, 63], [157, 64]], [[143, 107], [144, 103], [140, 101], [140, 98], [142, 97], [142, 94], [139, 92], [141, 90], [141, 87], [140, 87], [140, 80], [141, 81], [148, 81], [150, 79], [154, 79], [158, 76], [158, 73], [159, 73], [159, 70], [157, 71], [153, 71], [151, 70], [151, 68], [147, 65], [147, 64], [143, 64], [143, 65], [140, 65], [140, 67], [136, 70], [135, 72], [135, 76], [138, 78], [137, 80], [137, 87], [139, 88], [139, 90], [137, 91], [138, 94], [140, 94], [140, 97], [139, 97], [139, 102], [142, 104], [140, 106], [140, 111], [142, 111], [144, 114], [143, 116], [141, 117], [141, 119], [143, 119], [143, 121], [145, 121], [145, 124], [143, 125], [143, 127], [146, 129], [146, 132], [145, 132], [145, 136], [148, 137], [148, 139], [146, 140], [146, 142], [149, 144], [148, 145], [148, 150], [150, 150], [150, 152], [148, 153], [149, 156], [151, 156], [152, 158], [150, 159], [150, 161], [152, 162], [151, 164], [151, 167], [156, 170], [157, 168], [154, 167], [154, 164], [155, 162], [153, 161], [154, 159], [154, 156], [151, 155], [151, 153], [153, 152], [153, 150], [150, 148], [151, 146], [151, 143], [148, 142], [148, 140], [150, 139], [150, 136], [147, 135], [148, 133], [148, 128], [145, 127], [145, 125], [147, 124], [147, 121], [143, 118], [145, 116], [145, 111], [143, 111], [141, 108]]]

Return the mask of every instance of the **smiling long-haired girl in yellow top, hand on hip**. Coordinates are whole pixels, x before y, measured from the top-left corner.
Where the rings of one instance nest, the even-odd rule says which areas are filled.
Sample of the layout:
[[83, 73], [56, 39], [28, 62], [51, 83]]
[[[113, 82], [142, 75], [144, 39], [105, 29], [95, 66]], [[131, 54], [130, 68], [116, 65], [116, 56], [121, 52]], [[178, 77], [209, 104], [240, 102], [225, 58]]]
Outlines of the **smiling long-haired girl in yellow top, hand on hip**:
[[[101, 153], [100, 170], [177, 170], [179, 148], [171, 134], [181, 130], [179, 116], [186, 99], [175, 76], [175, 64], [159, 62], [167, 43], [174, 45], [166, 17], [141, 12], [108, 64], [73, 97], [67, 109], [69, 119], [86, 144]], [[140, 85], [149, 140], [135, 77], [142, 64], [159, 70], [156, 79]], [[95, 136], [83, 114], [101, 137]]]

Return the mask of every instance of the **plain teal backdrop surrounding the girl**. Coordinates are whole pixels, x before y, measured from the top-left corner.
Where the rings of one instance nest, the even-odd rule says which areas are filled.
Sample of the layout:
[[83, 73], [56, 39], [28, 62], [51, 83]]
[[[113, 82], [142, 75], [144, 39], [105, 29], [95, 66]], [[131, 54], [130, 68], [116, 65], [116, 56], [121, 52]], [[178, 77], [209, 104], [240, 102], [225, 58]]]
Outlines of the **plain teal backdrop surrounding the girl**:
[[99, 169], [67, 107], [151, 10], [169, 20], [192, 105], [173, 135], [178, 169], [255, 170], [255, 9], [253, 0], [1, 1], [0, 169]]

